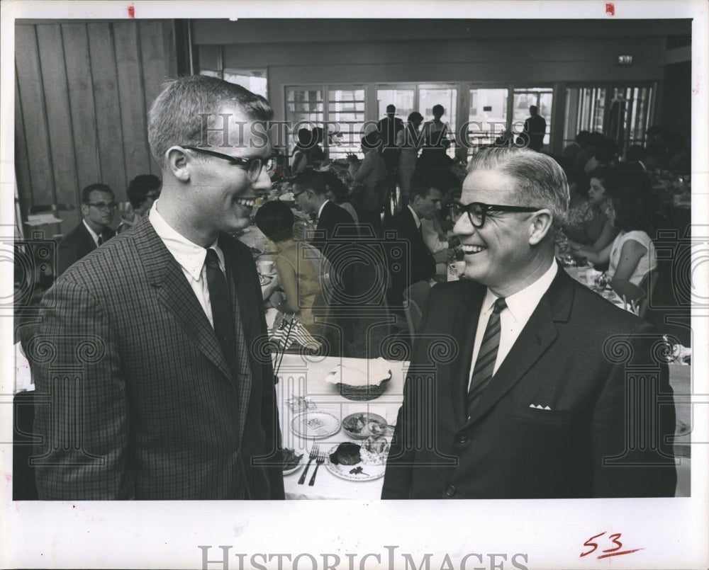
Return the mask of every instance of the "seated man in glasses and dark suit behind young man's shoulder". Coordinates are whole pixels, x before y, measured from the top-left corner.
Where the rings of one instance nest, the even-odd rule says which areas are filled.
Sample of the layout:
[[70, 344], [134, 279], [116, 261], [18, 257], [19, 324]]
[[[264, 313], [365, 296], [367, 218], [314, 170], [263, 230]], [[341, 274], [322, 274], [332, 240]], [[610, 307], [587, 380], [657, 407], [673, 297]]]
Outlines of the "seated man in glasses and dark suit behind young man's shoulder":
[[89, 184], [82, 190], [82, 221], [57, 246], [57, 277], [79, 259], [111, 239], [113, 214], [118, 205], [106, 184]]

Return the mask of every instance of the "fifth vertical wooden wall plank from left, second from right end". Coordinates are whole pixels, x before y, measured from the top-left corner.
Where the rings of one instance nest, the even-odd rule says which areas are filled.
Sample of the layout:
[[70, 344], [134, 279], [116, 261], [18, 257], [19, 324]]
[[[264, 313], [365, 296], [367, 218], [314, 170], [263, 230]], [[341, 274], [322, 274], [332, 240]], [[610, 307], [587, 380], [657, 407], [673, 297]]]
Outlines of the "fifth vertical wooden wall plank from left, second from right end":
[[125, 154], [126, 178], [130, 173], [150, 172], [147, 147], [147, 113], [143, 66], [140, 60], [140, 37], [135, 22], [113, 24], [118, 74], [118, 99], [121, 103], [121, 132]]

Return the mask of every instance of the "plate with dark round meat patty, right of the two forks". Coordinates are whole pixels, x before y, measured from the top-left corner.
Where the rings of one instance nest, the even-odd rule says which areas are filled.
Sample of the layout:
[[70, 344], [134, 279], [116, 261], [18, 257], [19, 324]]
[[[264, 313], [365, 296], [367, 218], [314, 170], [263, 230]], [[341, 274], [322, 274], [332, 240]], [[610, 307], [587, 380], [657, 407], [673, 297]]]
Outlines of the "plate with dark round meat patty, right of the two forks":
[[347, 481], [373, 481], [384, 477], [389, 443], [385, 439], [338, 443], [328, 451], [325, 468]]

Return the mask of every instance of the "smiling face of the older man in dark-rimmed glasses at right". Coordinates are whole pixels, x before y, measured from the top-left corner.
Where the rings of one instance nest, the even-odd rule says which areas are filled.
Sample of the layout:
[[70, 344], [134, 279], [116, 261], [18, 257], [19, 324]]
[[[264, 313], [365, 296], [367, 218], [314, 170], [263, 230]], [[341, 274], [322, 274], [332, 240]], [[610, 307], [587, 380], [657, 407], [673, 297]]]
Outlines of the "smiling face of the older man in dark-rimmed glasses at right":
[[[463, 183], [460, 202], [520, 205], [515, 200], [515, 181], [495, 170], [476, 170]], [[507, 296], [522, 289], [534, 273], [537, 253], [530, 236], [532, 214], [488, 212], [483, 227], [471, 224], [467, 214], [453, 227], [462, 246], [465, 277], [489, 287], [496, 295]]]

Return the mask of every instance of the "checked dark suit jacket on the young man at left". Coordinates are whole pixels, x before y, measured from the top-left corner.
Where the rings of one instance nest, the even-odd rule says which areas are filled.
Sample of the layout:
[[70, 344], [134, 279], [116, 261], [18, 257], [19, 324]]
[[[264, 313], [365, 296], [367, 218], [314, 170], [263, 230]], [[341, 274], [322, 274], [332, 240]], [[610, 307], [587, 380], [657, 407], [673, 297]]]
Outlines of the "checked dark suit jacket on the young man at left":
[[35, 414], [40, 498], [230, 499], [244, 484], [250, 498], [283, 498], [281, 467], [258, 459], [274, 455], [280, 433], [273, 370], [259, 348], [266, 324], [256, 268], [231, 236], [219, 245], [250, 375], [232, 377], [147, 219], [45, 294], [26, 345], [37, 394], [48, 397]]

